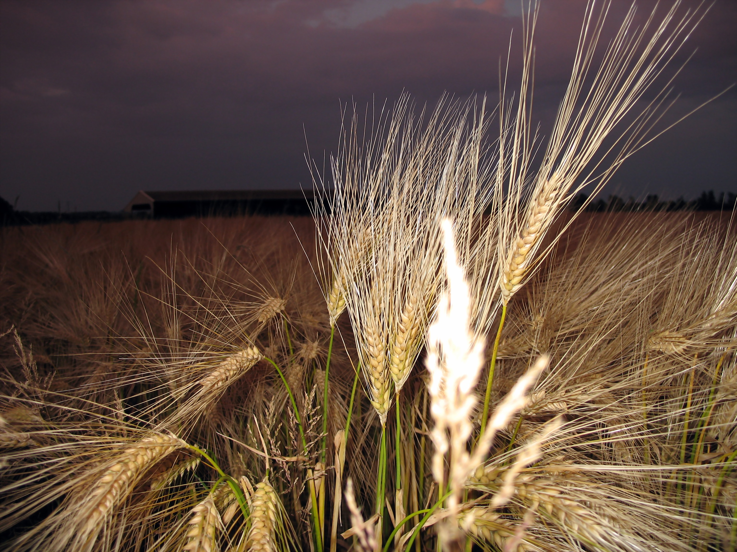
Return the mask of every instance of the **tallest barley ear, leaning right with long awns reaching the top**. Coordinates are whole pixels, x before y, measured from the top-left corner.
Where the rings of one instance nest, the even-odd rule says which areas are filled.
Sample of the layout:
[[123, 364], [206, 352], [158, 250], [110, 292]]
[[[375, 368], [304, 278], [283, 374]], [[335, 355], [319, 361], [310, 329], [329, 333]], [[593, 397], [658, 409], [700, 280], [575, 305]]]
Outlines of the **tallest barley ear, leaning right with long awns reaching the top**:
[[[497, 258], [504, 305], [551, 252], [551, 245], [541, 251], [542, 241], [562, 208], [586, 186], [594, 197], [624, 160], [647, 144], [652, 127], [670, 107], [670, 87], [659, 88], [658, 79], [708, 10], [702, 4], [680, 13], [679, 4], [672, 3], [662, 18], [654, 8], [645, 24], [635, 27], [632, 3], [615, 37], [600, 48], [609, 2], [588, 2], [573, 71], [534, 175], [531, 160], [539, 144], [531, 135], [530, 116], [537, 2], [523, 15], [525, 57], [517, 113], [506, 113], [511, 105], [500, 104], [496, 185], [497, 197], [505, 197], [498, 202]], [[598, 55], [602, 49], [604, 57]], [[643, 101], [651, 89], [652, 96]], [[581, 208], [573, 217], [579, 213]], [[553, 236], [553, 244], [562, 231]]]

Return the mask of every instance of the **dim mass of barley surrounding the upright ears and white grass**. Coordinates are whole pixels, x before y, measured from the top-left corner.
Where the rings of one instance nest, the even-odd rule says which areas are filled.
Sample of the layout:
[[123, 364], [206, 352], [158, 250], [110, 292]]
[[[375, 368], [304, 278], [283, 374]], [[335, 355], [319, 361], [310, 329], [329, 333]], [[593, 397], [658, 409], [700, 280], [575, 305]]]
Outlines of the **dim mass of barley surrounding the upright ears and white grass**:
[[[503, 548], [532, 512], [525, 550], [729, 549], [737, 236], [727, 215], [695, 217], [582, 216], [510, 302], [492, 407], [531, 359], [551, 361], [464, 484], [458, 519], [479, 546]], [[310, 251], [311, 226], [4, 230], [3, 319], [18, 330], [2, 338], [4, 539], [19, 549], [306, 549], [313, 495], [326, 547], [352, 545], [340, 537], [352, 526], [346, 506], [331, 537], [336, 475], [352, 478], [371, 517], [382, 425], [371, 389], [354, 385], [341, 316], [322, 436], [329, 315], [295, 235]], [[297, 416], [260, 355], [282, 370]], [[406, 514], [438, 500], [425, 374], [416, 366], [402, 387], [401, 486], [385, 481], [385, 541], [395, 488]], [[395, 416], [385, 425], [391, 475]], [[513, 470], [556, 419], [539, 458]], [[509, 500], [490, 507], [512, 471]], [[413, 546], [432, 548], [434, 528]]]

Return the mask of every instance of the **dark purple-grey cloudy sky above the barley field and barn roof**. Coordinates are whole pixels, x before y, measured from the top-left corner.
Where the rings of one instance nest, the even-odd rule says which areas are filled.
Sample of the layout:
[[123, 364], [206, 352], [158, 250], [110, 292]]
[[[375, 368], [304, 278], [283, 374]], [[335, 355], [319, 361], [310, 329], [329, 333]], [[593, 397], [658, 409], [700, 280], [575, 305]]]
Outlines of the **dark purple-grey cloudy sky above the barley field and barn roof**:
[[[663, 4], [669, 4], [665, 0]], [[652, 2], [640, 1], [639, 12]], [[686, 7], [697, 5], [686, 1]], [[296, 188], [335, 151], [340, 102], [489, 93], [516, 0], [0, 1], [0, 196], [118, 210], [139, 189]], [[609, 21], [629, 2], [614, 0]], [[570, 74], [584, 0], [542, 0], [535, 120]], [[611, 36], [611, 29], [607, 38]], [[737, 1], [686, 43], [670, 120], [737, 81]], [[518, 74], [511, 71], [512, 79]], [[304, 129], [304, 130], [303, 130]], [[737, 190], [733, 89], [630, 159], [609, 191]]]

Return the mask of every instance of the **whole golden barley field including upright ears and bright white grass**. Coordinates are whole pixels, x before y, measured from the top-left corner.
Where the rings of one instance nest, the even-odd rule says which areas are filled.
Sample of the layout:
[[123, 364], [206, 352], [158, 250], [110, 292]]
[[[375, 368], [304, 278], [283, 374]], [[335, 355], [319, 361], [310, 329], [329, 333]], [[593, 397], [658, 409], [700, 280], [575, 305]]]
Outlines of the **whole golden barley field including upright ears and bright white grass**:
[[734, 213], [570, 208], [702, 13], [605, 11], [544, 140], [533, 9], [498, 105], [346, 107], [312, 218], [3, 228], [4, 547], [735, 551]]

